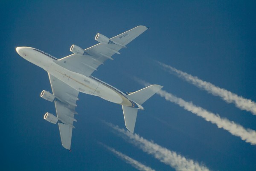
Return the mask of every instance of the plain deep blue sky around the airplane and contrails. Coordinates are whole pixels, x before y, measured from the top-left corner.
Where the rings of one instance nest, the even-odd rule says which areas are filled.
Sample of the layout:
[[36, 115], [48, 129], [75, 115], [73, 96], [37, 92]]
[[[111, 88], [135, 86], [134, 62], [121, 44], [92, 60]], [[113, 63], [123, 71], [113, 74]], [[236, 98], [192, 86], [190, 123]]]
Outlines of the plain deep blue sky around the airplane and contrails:
[[[255, 1], [1, 1], [1, 170], [136, 170], [100, 141], [156, 170], [174, 170], [126, 142], [101, 122], [125, 128], [122, 108], [79, 94], [72, 152], [61, 145], [58, 126], [43, 119], [55, 106], [47, 72], [20, 57], [30, 46], [57, 58], [70, 46], [95, 45], [99, 32], [113, 37], [139, 25], [150, 27], [106, 61], [93, 76], [121, 91], [136, 91], [139, 77], [245, 128], [256, 116], [186, 83], [154, 60], [256, 101]], [[203, 163], [211, 170], [256, 168], [256, 146], [154, 95], [139, 111], [135, 133]]]

